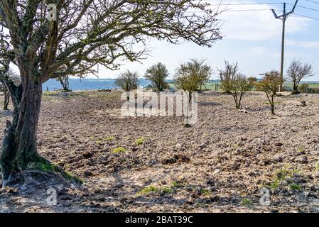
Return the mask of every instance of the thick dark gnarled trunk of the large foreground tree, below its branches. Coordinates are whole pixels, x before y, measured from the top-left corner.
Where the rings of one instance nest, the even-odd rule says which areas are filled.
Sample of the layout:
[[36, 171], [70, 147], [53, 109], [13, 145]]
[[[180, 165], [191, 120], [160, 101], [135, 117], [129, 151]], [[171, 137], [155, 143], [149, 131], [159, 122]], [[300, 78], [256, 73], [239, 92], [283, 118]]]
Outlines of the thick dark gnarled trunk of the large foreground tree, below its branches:
[[36, 146], [41, 83], [25, 79], [19, 87], [11, 85], [13, 120], [7, 122], [0, 157], [3, 186], [23, 180], [23, 170], [31, 163], [45, 161], [38, 155]]

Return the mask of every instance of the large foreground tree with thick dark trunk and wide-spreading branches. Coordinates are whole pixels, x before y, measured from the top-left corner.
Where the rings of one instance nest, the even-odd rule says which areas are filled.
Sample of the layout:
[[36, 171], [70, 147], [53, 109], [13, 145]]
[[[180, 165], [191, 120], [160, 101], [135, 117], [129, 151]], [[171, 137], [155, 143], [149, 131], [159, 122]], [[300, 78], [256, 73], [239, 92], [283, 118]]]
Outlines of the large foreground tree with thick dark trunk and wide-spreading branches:
[[[140, 60], [147, 49], [135, 44], [145, 47], [149, 38], [211, 47], [221, 38], [219, 28], [217, 13], [202, 1], [1, 0], [0, 77], [13, 102], [2, 140], [3, 186], [23, 181], [35, 164], [50, 163], [36, 145], [43, 82]], [[4, 75], [10, 64], [18, 66], [18, 86]]]

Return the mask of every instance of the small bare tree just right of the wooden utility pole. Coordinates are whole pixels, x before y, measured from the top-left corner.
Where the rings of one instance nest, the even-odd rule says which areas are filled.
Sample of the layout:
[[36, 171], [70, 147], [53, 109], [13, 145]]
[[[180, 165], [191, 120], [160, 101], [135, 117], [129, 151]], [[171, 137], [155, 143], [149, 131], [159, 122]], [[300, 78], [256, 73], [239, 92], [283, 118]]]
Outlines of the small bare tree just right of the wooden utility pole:
[[299, 94], [298, 87], [301, 79], [313, 76], [313, 65], [308, 63], [302, 64], [300, 60], [292, 60], [287, 70], [287, 76], [293, 82], [292, 94]]

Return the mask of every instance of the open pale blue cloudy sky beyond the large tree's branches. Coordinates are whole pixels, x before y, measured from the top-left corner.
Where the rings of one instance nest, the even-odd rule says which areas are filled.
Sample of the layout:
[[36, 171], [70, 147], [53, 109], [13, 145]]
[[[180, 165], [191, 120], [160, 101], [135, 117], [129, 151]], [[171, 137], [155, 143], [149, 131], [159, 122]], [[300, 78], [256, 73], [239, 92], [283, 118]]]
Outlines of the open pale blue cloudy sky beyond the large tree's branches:
[[[284, 0], [285, 1], [285, 0]], [[313, 0], [318, 1], [319, 0]], [[210, 0], [211, 4], [219, 3], [220, 0]], [[252, 0], [232, 1], [224, 0], [222, 4], [238, 3], [279, 3], [283, 0]], [[293, 4], [294, 0], [286, 0]], [[299, 0], [298, 6], [318, 9], [319, 4], [306, 0]], [[212, 6], [215, 7], [215, 6]], [[224, 6], [225, 7], [225, 6]], [[171, 45], [164, 41], [150, 40], [148, 47], [151, 48], [151, 56], [139, 62], [122, 62], [122, 67], [117, 71], [99, 70], [100, 78], [114, 78], [125, 70], [134, 70], [141, 76], [146, 69], [156, 62], [162, 62], [168, 67], [170, 76], [181, 62], [190, 58], [207, 60], [213, 69], [223, 66], [224, 60], [239, 63], [242, 73], [248, 76], [260, 77], [259, 74], [272, 69], [279, 70], [281, 55], [281, 21], [274, 18], [270, 10], [282, 11], [282, 4], [262, 4], [227, 6], [227, 10], [220, 14], [219, 18], [226, 21], [222, 24], [224, 38], [217, 41], [212, 48], [202, 48], [193, 43]], [[292, 8], [287, 5], [287, 10]], [[232, 10], [262, 9], [261, 11], [232, 11]], [[230, 12], [232, 11], [232, 12]], [[311, 11], [301, 7], [296, 8], [296, 14], [319, 18], [319, 11]], [[319, 81], [319, 21], [310, 18], [293, 15], [286, 21], [286, 52], [285, 70], [289, 62], [294, 58], [302, 62], [313, 63], [315, 76], [306, 80]], [[214, 76], [217, 79], [217, 75]]]

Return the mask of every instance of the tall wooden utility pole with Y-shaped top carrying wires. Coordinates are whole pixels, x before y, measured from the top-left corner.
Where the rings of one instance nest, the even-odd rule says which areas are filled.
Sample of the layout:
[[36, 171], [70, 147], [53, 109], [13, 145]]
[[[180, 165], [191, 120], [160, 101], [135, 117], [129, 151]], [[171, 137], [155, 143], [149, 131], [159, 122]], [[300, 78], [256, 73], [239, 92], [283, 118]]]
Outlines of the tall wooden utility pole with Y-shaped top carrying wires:
[[279, 87], [279, 92], [282, 92], [283, 89], [283, 58], [284, 58], [284, 51], [285, 51], [285, 30], [286, 30], [286, 19], [288, 16], [295, 11], [296, 6], [297, 6], [298, 0], [296, 0], [295, 5], [293, 6], [293, 9], [286, 13], [286, 3], [283, 3], [283, 15], [278, 16], [276, 11], [274, 9], [271, 9], [271, 11], [274, 13], [274, 16], [276, 19], [281, 19], [283, 21], [283, 31], [282, 31], [282, 36], [281, 36], [281, 67], [280, 67], [280, 77], [281, 77], [281, 85]]

